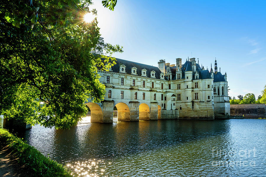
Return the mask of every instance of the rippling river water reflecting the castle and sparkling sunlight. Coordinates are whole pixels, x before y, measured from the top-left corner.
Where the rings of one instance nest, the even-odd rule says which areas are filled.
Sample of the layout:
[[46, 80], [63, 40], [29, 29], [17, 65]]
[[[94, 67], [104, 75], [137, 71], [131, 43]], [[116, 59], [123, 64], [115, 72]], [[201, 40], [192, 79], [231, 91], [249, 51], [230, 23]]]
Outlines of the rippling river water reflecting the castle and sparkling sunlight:
[[84, 121], [23, 134], [81, 176], [266, 176], [266, 120]]

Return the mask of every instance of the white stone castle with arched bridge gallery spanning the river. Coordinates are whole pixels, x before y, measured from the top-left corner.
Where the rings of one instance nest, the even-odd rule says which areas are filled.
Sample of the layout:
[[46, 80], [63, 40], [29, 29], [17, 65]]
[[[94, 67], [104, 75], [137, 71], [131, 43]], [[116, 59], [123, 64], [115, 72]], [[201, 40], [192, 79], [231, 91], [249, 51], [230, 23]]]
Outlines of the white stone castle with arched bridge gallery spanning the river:
[[87, 103], [94, 122], [112, 122], [113, 107], [119, 120], [139, 119], [214, 119], [230, 115], [227, 75], [200, 67], [199, 60], [165, 60], [158, 67], [116, 58], [109, 71], [100, 71], [106, 86], [99, 106]]

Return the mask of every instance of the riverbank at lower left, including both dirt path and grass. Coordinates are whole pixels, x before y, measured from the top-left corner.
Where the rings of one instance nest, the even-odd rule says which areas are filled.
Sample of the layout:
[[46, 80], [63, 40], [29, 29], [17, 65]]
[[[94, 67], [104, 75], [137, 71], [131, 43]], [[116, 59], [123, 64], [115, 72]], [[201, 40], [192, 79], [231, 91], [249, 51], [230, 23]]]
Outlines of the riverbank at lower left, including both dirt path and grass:
[[2, 176], [72, 176], [63, 165], [45, 157], [7, 130], [0, 129], [0, 142]]

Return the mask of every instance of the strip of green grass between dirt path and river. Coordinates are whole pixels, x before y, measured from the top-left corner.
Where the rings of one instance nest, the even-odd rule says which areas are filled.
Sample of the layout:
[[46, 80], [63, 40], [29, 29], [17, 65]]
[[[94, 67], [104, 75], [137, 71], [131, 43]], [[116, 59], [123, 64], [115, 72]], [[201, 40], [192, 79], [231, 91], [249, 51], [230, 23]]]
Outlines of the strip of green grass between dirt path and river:
[[38, 150], [23, 142], [20, 138], [0, 129], [1, 145], [7, 145], [22, 165], [32, 170], [34, 176], [70, 177], [69, 171], [56, 161], [42, 155]]

